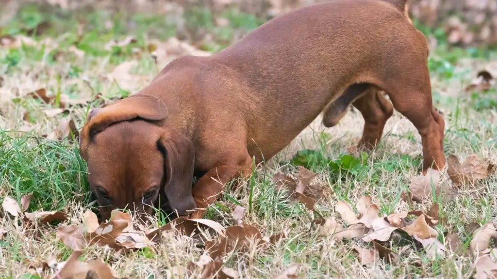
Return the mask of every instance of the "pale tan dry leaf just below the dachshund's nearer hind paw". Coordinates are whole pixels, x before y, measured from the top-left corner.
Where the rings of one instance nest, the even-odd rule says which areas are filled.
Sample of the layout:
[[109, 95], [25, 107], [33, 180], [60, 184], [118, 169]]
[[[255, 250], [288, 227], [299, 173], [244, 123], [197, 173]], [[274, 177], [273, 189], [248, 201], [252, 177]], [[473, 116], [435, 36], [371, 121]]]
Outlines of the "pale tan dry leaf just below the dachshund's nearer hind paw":
[[432, 181], [433, 187], [435, 189], [435, 195], [439, 196], [440, 194], [442, 194], [443, 202], [452, 200], [457, 194], [457, 189], [450, 187], [448, 183], [443, 182], [440, 185], [440, 172], [438, 170], [429, 168], [426, 172], [426, 175], [415, 176], [411, 180], [409, 190], [413, 195], [413, 201], [421, 202], [424, 200], [432, 199]]

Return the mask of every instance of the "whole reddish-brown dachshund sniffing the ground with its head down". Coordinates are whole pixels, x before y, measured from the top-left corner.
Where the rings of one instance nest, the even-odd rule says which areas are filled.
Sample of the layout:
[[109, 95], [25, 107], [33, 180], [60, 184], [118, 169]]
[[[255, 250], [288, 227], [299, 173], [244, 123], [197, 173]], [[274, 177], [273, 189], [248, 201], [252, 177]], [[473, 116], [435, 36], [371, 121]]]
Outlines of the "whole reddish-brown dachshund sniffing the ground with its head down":
[[[159, 202], [199, 217], [226, 183], [249, 174], [253, 156], [268, 160], [321, 112], [332, 127], [350, 104], [365, 120], [359, 147], [376, 145], [395, 108], [421, 135], [424, 172], [443, 168], [427, 57], [405, 0], [307, 6], [212, 56], [180, 57], [137, 94], [87, 116], [80, 149], [102, 217], [151, 213]], [[203, 176], [192, 187], [194, 173]]]

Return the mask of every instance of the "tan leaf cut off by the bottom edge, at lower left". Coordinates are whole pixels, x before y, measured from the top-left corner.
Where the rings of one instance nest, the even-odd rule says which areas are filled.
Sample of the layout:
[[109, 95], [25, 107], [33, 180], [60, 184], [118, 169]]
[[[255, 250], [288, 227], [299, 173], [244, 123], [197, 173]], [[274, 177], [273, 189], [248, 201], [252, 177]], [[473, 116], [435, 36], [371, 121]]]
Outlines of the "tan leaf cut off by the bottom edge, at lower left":
[[74, 251], [62, 270], [53, 279], [115, 279], [110, 268], [100, 260], [78, 261], [83, 253]]

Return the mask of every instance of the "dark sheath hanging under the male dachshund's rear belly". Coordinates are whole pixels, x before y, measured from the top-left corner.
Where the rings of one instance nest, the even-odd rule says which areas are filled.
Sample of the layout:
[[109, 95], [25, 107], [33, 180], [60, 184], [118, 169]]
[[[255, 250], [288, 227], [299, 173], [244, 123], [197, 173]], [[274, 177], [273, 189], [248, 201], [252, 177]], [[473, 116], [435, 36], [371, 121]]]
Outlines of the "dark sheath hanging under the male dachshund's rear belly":
[[338, 124], [345, 116], [348, 106], [360, 98], [370, 87], [371, 84], [369, 83], [355, 83], [347, 87], [336, 100], [324, 109], [323, 125], [331, 128]]

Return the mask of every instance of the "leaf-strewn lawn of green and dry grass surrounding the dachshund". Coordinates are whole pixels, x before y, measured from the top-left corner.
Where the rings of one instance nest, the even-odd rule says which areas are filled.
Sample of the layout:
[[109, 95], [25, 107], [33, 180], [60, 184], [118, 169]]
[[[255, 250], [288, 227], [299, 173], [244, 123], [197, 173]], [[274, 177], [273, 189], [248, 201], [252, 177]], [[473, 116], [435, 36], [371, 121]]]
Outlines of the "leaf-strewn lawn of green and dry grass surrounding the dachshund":
[[[497, 74], [497, 51], [450, 47], [443, 31], [420, 25], [450, 162], [431, 180], [420, 177], [421, 141], [406, 118], [395, 112], [378, 146], [356, 152], [350, 147], [364, 121], [350, 109], [331, 129], [316, 119], [240, 187], [227, 185], [204, 215], [215, 223], [200, 221], [200, 233], [197, 222], [184, 221], [176, 228], [187, 232], [163, 227], [153, 242], [143, 240], [168, 223], [157, 212], [127, 247], [114, 240], [117, 232], [109, 245], [90, 241], [73, 253], [75, 236], [61, 230], [84, 224], [95, 236], [105, 229], [91, 213], [76, 139], [88, 110], [133, 94], [179, 55], [219, 51], [263, 22], [233, 10], [222, 13], [223, 24], [202, 9], [185, 19], [210, 39], [195, 46], [176, 39], [177, 26], [164, 16], [91, 11], [82, 19], [36, 5], [0, 26], [1, 278], [52, 278], [64, 264], [73, 267], [66, 272], [83, 270], [75, 278], [88, 269], [99, 276], [86, 278], [113, 278], [102, 275], [107, 267], [115, 278], [147, 279], [211, 278], [218, 270], [219, 278], [281, 279], [497, 274], [497, 85], [477, 78]], [[30, 214], [45, 211], [64, 213]], [[113, 229], [128, 224], [119, 216]], [[242, 236], [237, 249], [204, 254], [232, 241], [234, 230]]]

